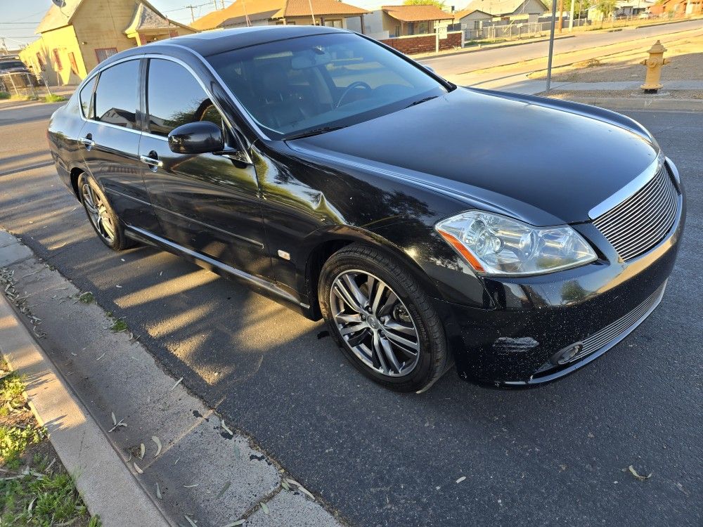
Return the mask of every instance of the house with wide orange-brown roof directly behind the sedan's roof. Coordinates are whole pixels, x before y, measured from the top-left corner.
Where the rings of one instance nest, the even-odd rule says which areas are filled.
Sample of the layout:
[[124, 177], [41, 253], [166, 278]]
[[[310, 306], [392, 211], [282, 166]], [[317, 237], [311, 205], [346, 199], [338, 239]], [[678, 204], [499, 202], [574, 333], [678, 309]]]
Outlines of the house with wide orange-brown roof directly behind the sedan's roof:
[[360, 20], [366, 9], [337, 0], [237, 0], [195, 20], [197, 30], [255, 25], [325, 25], [347, 29], [347, 18]]

